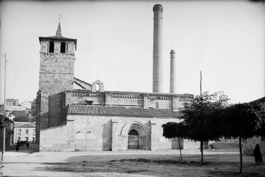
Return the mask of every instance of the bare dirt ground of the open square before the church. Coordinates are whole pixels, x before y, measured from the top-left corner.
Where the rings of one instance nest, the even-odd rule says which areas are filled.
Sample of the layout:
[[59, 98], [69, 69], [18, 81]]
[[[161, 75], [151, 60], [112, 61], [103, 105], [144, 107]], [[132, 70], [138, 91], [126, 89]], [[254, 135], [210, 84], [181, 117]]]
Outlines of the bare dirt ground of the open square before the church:
[[[4, 153], [3, 177], [76, 177], [76, 176], [239, 176], [239, 150], [204, 150], [204, 165], [201, 166], [200, 150], [130, 150], [130, 151], [78, 151], [78, 152], [33, 152], [30, 145], [14, 145]], [[243, 155], [243, 176], [265, 177], [265, 164], [256, 165], [254, 157]]]

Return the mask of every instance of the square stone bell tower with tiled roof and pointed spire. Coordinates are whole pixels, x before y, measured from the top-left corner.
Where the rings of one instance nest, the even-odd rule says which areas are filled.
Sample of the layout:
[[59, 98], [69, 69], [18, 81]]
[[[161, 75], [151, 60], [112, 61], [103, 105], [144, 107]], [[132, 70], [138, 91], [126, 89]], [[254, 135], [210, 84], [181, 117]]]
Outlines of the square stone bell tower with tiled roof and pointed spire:
[[[40, 74], [36, 129], [62, 125], [65, 106], [62, 91], [73, 89], [76, 39], [63, 37], [59, 23], [55, 36], [39, 37]], [[38, 131], [36, 131], [38, 132]], [[36, 142], [38, 141], [36, 136]]]

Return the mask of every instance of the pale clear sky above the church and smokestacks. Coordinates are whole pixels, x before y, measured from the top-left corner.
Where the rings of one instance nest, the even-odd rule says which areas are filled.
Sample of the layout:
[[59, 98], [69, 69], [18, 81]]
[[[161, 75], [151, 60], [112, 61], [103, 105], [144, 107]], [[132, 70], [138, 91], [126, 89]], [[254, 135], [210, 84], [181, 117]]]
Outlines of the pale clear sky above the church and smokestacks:
[[[263, 1], [0, 1], [0, 104], [33, 101], [40, 36], [77, 39], [75, 77], [108, 91], [152, 92], [153, 6], [162, 4], [164, 93], [170, 50], [176, 51], [177, 94], [223, 91], [231, 103], [265, 96]], [[172, 47], [173, 46], [173, 47]]]

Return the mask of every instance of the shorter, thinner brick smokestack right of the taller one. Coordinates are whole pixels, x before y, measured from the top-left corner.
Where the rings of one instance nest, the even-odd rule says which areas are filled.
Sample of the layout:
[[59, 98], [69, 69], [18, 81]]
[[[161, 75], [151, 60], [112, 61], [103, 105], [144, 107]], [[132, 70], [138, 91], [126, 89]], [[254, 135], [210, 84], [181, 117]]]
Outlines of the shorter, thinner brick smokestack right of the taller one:
[[177, 91], [177, 73], [176, 73], [176, 52], [170, 51], [170, 90], [169, 93], [176, 94]]

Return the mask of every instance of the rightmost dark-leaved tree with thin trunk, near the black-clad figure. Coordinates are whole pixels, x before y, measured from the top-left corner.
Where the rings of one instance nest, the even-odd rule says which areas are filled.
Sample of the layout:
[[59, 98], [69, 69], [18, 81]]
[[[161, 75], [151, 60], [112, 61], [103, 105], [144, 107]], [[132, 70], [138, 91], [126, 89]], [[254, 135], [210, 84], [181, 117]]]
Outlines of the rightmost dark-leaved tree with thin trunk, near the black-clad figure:
[[240, 170], [242, 174], [241, 141], [265, 135], [265, 114], [258, 102], [241, 103], [226, 107], [218, 119], [222, 122], [222, 133], [227, 139], [239, 138]]

